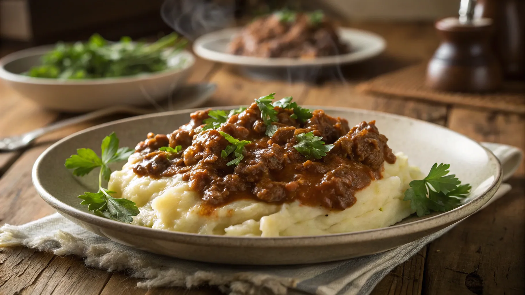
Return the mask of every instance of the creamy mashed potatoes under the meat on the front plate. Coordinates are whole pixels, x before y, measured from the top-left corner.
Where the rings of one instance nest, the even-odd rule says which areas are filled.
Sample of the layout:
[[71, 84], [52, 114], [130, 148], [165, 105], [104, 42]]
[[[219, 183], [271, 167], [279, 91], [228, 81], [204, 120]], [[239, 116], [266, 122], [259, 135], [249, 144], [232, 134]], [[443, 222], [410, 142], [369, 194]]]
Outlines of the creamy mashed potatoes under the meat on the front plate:
[[116, 198], [137, 204], [140, 214], [133, 217], [133, 224], [160, 230], [263, 237], [345, 233], [390, 226], [413, 213], [410, 202], [403, 201], [404, 191], [409, 182], [424, 175], [408, 166], [404, 154], [396, 156], [394, 164], [384, 163], [383, 178], [357, 192], [357, 202], [343, 211], [299, 202], [274, 205], [237, 200], [206, 214], [198, 194], [181, 176], [152, 179], [133, 173], [139, 154], [111, 174], [109, 189], [117, 192]]

